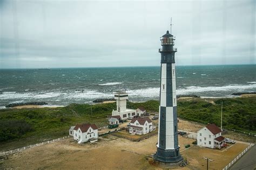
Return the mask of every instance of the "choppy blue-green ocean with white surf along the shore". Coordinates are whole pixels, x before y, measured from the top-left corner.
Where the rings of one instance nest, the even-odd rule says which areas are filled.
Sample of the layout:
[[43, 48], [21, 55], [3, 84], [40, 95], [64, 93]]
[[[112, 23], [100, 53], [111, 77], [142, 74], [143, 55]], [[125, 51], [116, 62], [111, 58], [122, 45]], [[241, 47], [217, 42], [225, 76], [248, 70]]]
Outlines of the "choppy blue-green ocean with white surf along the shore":
[[[177, 95], [232, 97], [256, 91], [256, 65], [176, 66]], [[0, 69], [0, 108], [9, 103], [49, 105], [113, 98], [119, 88], [132, 102], [159, 100], [160, 67]]]

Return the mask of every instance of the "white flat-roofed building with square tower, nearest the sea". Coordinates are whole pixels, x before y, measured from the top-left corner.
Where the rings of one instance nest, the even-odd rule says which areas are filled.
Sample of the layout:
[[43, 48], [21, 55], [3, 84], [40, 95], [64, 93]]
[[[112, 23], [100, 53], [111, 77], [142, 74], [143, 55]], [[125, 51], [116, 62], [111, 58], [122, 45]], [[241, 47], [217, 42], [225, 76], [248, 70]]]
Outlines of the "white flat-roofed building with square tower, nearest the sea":
[[112, 111], [112, 116], [120, 116], [122, 120], [136, 116], [136, 110], [126, 108], [126, 100], [128, 99], [127, 93], [118, 91], [114, 94], [114, 99], [117, 100], [117, 110]]

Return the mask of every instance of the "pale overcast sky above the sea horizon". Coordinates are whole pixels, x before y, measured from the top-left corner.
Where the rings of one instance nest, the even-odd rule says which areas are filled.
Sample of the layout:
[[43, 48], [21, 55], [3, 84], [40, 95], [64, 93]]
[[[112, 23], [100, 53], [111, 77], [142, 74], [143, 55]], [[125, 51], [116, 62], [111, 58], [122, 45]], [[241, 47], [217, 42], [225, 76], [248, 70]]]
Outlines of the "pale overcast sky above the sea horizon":
[[256, 1], [0, 0], [0, 68], [255, 64]]

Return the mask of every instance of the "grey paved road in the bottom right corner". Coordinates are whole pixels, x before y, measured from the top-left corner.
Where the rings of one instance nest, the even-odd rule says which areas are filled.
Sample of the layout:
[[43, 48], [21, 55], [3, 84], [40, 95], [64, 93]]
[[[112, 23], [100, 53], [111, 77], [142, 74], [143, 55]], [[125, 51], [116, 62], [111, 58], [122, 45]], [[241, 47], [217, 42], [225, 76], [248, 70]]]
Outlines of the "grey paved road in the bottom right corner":
[[256, 168], [256, 145], [245, 153], [230, 169], [232, 170], [249, 170]]

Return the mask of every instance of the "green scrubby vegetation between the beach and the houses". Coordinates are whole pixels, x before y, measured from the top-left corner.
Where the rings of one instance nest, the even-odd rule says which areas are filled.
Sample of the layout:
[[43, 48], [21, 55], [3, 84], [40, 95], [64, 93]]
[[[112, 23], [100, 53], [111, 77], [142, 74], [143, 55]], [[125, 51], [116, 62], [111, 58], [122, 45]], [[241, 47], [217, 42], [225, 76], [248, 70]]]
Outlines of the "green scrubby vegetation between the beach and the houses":
[[[220, 125], [221, 101], [223, 101], [223, 126], [246, 132], [256, 132], [256, 96], [178, 100], [180, 118], [203, 124]], [[127, 107], [143, 106], [157, 112], [158, 101], [127, 102]], [[10, 150], [68, 135], [68, 129], [77, 123], [107, 125], [107, 116], [116, 109], [116, 103], [70, 104], [63, 108], [24, 108], [0, 110], [0, 150]]]

